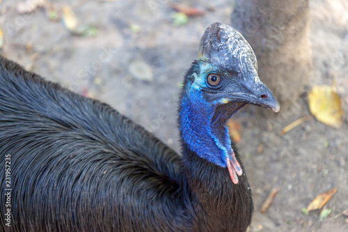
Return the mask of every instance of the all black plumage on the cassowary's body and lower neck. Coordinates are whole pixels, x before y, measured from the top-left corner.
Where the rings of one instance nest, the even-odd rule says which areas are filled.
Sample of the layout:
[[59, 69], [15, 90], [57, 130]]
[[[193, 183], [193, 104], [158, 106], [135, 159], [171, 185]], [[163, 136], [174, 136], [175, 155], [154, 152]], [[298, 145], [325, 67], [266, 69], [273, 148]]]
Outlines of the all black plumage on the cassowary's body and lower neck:
[[246, 231], [245, 173], [235, 185], [185, 139], [182, 153], [109, 105], [0, 58], [0, 155], [10, 154], [12, 186], [11, 224], [1, 213], [0, 231]]

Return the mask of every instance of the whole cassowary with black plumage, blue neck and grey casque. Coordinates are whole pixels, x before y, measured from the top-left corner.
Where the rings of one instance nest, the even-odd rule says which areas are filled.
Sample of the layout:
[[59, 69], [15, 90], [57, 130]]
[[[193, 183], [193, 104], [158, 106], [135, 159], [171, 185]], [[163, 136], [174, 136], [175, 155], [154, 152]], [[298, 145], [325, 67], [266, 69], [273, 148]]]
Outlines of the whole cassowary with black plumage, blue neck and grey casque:
[[251, 190], [226, 121], [247, 104], [279, 110], [257, 71], [240, 33], [207, 28], [184, 77], [180, 157], [109, 105], [1, 58], [1, 231], [246, 231]]

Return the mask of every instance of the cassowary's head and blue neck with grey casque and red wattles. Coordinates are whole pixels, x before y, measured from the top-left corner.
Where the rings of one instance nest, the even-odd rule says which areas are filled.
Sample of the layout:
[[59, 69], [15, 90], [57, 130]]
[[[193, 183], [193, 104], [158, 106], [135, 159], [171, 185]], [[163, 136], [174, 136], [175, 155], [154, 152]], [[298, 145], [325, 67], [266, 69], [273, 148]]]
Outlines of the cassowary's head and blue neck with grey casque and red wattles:
[[203, 34], [198, 58], [184, 80], [180, 132], [190, 150], [227, 167], [235, 184], [242, 169], [231, 148], [226, 122], [247, 104], [275, 112], [280, 109], [260, 81], [255, 54], [242, 34], [214, 23]]

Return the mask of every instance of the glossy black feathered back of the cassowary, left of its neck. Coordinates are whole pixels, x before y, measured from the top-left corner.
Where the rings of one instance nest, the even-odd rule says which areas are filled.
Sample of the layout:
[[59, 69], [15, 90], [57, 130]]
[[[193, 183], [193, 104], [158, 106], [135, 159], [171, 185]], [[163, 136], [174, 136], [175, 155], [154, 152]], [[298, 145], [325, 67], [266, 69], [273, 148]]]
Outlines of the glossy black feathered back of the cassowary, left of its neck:
[[159, 207], [171, 206], [178, 189], [180, 157], [171, 148], [108, 105], [0, 58], [1, 160], [6, 154], [10, 231], [129, 231], [134, 222], [160, 231], [178, 213]]

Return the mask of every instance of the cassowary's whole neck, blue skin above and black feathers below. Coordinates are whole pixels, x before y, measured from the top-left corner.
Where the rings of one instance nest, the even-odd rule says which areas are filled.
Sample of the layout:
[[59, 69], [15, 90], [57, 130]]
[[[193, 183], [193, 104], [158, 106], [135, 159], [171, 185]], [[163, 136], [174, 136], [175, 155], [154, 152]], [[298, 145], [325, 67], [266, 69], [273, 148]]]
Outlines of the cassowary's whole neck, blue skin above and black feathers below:
[[[226, 227], [219, 226], [229, 225], [230, 231], [246, 231], [253, 211], [248, 180], [243, 173], [237, 185], [232, 183], [223, 160], [232, 150], [226, 121], [243, 104], [213, 105], [206, 102], [202, 91], [189, 91], [188, 82], [186, 78], [179, 112], [183, 149], [181, 173], [188, 184], [184, 185], [184, 190], [191, 196], [189, 201], [196, 215], [201, 216], [198, 221], [202, 228], [226, 231]], [[237, 150], [235, 158], [243, 169]], [[210, 220], [205, 224], [206, 218], [214, 218], [215, 227], [209, 227], [212, 226]]]

